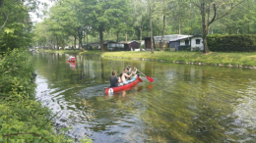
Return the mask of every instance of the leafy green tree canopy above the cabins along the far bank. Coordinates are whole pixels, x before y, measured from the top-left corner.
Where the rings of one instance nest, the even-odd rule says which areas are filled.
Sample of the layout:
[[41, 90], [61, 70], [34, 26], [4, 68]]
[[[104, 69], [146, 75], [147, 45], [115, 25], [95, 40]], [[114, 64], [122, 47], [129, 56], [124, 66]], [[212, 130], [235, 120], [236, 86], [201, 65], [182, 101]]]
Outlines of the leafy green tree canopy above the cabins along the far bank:
[[[216, 19], [207, 28], [211, 33], [255, 33], [255, 0], [228, 0], [228, 1], [178, 1], [178, 0], [151, 0], [154, 7], [153, 35], [164, 34], [202, 34], [201, 3], [206, 6], [206, 20], [210, 25], [214, 18], [216, 6]], [[44, 33], [47, 40], [34, 38], [36, 44], [42, 47], [50, 44], [70, 45], [79, 39], [81, 44], [89, 37], [90, 42], [100, 40], [143, 40], [149, 36], [150, 19], [148, 1], [143, 0], [65, 0], [57, 1], [51, 8], [49, 19], [42, 23], [47, 28]], [[162, 16], [165, 16], [163, 29]], [[217, 21], [218, 20], [218, 21]], [[41, 27], [42, 25], [36, 24]], [[39, 28], [38, 28], [39, 29]], [[238, 30], [239, 29], [239, 30]], [[239, 31], [239, 32], [237, 32]], [[90, 35], [86, 35], [86, 34]], [[101, 36], [99, 36], [101, 34]], [[35, 36], [41, 37], [40, 32]]]

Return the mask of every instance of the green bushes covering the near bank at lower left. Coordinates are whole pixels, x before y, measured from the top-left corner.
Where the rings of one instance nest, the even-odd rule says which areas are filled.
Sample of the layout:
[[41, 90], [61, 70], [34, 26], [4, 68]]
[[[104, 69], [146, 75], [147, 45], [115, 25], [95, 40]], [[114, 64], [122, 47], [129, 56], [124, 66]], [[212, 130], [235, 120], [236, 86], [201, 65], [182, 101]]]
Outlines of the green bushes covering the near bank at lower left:
[[[0, 61], [0, 142], [74, 142], [54, 132], [51, 115], [34, 99], [34, 75], [29, 54], [8, 51]], [[91, 142], [84, 139], [82, 142]]]

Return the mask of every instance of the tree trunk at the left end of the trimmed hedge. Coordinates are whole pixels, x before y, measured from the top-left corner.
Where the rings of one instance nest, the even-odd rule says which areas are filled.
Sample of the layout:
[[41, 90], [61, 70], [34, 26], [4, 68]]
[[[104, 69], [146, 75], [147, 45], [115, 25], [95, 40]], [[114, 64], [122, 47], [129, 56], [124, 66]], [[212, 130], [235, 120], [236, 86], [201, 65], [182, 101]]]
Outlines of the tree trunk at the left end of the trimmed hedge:
[[204, 53], [208, 53], [210, 52], [210, 50], [208, 49], [207, 46], [207, 29], [208, 26], [206, 25], [206, 5], [203, 2], [201, 4], [201, 15], [202, 15], [202, 26], [203, 26], [203, 44], [204, 44]]

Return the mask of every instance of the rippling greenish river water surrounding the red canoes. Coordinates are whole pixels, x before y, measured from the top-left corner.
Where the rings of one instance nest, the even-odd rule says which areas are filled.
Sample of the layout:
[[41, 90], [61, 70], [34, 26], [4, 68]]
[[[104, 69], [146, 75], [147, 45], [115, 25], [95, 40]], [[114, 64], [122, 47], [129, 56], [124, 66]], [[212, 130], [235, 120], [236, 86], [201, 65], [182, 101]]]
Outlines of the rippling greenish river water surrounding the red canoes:
[[[256, 71], [68, 54], [32, 56], [36, 100], [75, 139], [106, 142], [254, 142]], [[112, 67], [155, 79], [104, 95]]]

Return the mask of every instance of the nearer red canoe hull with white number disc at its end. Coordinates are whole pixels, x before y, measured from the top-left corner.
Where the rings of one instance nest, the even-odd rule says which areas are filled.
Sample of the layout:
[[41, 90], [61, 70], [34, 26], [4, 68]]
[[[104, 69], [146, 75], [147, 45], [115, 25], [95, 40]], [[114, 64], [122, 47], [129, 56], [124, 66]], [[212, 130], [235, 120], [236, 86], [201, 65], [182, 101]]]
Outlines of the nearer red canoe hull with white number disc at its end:
[[138, 84], [139, 79], [137, 78], [136, 80], [122, 85], [122, 86], [118, 86], [118, 87], [105, 87], [105, 94], [113, 94], [114, 92], [120, 91], [120, 90], [129, 90], [131, 87], [135, 86], [136, 84]]

